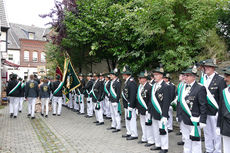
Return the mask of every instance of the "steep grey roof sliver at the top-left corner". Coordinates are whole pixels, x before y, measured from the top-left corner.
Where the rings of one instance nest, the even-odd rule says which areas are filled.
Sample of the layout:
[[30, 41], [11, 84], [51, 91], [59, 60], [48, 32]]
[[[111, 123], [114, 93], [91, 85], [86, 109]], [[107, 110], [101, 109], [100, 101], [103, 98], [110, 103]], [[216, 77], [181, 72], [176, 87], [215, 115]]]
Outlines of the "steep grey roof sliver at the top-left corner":
[[9, 28], [9, 22], [7, 20], [6, 9], [5, 9], [5, 2], [4, 0], [0, 0], [0, 26]]

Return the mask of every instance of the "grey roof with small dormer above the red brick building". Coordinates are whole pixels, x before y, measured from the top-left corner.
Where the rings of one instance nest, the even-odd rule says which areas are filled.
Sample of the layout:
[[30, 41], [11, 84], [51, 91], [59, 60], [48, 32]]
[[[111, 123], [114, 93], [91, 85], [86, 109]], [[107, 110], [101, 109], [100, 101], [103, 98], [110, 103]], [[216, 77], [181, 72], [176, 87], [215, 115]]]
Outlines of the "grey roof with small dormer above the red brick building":
[[34, 33], [33, 40], [46, 41], [44, 36], [50, 32], [50, 29], [41, 28], [36, 26], [28, 26], [17, 23], [10, 23], [9, 35], [8, 35], [8, 48], [20, 49], [19, 39], [29, 39], [29, 33]]

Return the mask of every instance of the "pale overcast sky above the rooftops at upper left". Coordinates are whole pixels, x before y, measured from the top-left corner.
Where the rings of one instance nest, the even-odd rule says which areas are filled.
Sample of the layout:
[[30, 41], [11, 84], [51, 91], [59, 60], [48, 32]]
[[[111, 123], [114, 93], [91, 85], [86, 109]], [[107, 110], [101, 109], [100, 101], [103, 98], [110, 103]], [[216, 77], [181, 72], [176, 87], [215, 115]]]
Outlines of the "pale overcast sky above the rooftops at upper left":
[[54, 8], [54, 0], [5, 0], [8, 20], [12, 23], [45, 26], [50, 20], [39, 17]]

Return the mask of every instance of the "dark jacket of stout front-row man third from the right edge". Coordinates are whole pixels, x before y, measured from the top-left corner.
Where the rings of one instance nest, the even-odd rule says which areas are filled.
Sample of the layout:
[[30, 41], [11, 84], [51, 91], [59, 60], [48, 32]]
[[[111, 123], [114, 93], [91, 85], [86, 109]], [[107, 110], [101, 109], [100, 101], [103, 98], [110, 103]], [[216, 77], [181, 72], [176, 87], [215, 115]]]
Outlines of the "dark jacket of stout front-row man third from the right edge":
[[[207, 119], [207, 93], [204, 86], [195, 82], [190, 89], [190, 93], [185, 96], [185, 101], [190, 108], [193, 117], [200, 116], [200, 122], [206, 123]], [[193, 125], [190, 117], [182, 109], [181, 119], [186, 125]]]

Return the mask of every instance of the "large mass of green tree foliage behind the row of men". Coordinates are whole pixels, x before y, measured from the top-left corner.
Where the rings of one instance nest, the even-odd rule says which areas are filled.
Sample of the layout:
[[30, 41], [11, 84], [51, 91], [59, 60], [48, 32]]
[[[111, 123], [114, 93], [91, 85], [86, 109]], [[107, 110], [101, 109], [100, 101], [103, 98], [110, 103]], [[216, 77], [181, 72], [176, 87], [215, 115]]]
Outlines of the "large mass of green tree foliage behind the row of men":
[[[223, 0], [78, 0], [66, 11], [62, 47], [74, 65], [106, 60], [137, 73], [162, 63], [179, 71], [202, 58], [219, 60], [225, 43], [216, 34]], [[226, 13], [226, 12], [225, 12]]]

